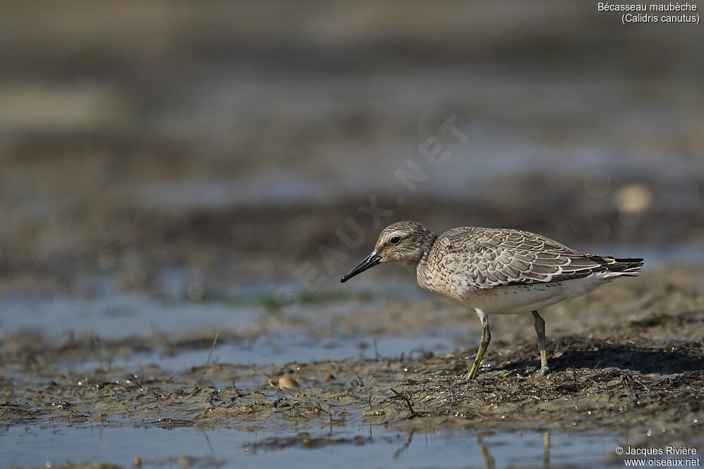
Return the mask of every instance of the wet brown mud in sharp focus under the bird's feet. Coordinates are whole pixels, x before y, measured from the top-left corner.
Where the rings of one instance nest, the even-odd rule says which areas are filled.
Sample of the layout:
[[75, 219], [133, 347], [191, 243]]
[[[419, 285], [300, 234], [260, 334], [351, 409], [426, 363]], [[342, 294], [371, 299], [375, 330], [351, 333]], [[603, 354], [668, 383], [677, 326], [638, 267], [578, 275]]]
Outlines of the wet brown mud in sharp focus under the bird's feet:
[[[476, 352], [470, 343], [438, 355], [417, 351], [268, 366], [206, 361], [175, 372], [157, 362], [72, 374], [57, 373], [56, 361], [94, 357], [91, 337], [51, 345], [37, 335], [18, 335], [1, 342], [0, 416], [5, 426], [101, 423], [256, 431], [291, 424], [332, 430], [363, 422], [408, 432], [549, 429], [619, 432], [648, 444], [697, 444], [704, 410], [701, 274], [663, 267], [567, 302], [565, 311], [546, 310], [551, 373], [545, 378], [533, 375], [539, 360], [529, 323], [512, 321], [514, 316], [492, 318], [499, 332], [473, 381], [465, 379]], [[376, 312], [377, 329], [385, 318], [389, 332], [395, 330], [394, 314], [383, 307]], [[410, 328], [422, 321], [420, 314], [414, 316], [406, 318]], [[365, 314], [356, 318], [368, 322]], [[451, 314], [437, 318], [458, 319]], [[471, 316], [464, 321], [477, 322]], [[236, 335], [223, 332], [220, 339], [237, 340]], [[120, 347], [139, 354], [167, 345], [175, 353], [212, 345], [206, 338], [191, 339], [170, 344], [158, 338], [116, 340], [100, 347], [103, 354]], [[363, 445], [365, 437], [300, 432], [260, 439], [250, 449], [339, 444]]]

